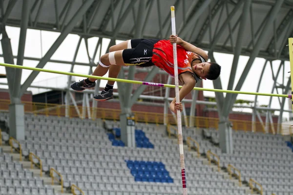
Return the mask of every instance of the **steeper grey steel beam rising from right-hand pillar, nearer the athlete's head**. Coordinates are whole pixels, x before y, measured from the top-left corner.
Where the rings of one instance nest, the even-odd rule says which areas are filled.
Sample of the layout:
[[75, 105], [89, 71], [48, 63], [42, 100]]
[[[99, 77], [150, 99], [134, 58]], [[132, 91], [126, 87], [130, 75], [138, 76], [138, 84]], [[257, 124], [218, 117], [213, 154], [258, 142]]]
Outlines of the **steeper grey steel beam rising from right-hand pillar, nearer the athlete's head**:
[[[241, 21], [240, 21], [240, 26], [239, 26], [239, 30], [238, 30], [235, 53], [234, 53], [234, 56], [233, 56], [232, 67], [231, 67], [231, 71], [230, 71], [228, 90], [232, 90], [233, 85], [234, 85], [234, 80], [235, 80], [236, 70], [237, 70], [237, 66], [238, 66], [238, 61], [239, 61], [239, 57], [240, 57], [241, 50], [242, 50], [242, 42], [243, 42], [243, 37], [244, 37], [243, 36], [244, 35], [244, 28], [246, 27], [247, 20], [248, 20], [248, 17], [249, 17], [250, 5], [251, 5], [251, 0], [245, 0], [244, 6], [243, 6], [243, 11], [242, 11], [242, 16], [241, 16]], [[227, 94], [226, 98], [225, 98], [223, 108], [227, 107], [228, 104], [230, 104], [230, 99], [231, 99], [231, 94]]]

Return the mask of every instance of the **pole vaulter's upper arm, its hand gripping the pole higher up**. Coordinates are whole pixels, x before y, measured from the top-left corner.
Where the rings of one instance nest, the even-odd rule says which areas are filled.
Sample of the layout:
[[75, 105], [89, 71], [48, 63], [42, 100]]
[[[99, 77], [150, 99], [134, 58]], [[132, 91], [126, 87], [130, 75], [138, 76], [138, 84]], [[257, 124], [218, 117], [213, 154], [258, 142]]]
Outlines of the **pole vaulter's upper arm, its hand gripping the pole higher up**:
[[177, 45], [182, 46], [187, 51], [196, 53], [196, 54], [202, 56], [206, 61], [208, 61], [208, 58], [209, 58], [208, 54], [204, 50], [202, 50], [201, 48], [198, 48], [198, 47], [188, 43], [187, 41], [181, 39], [180, 37], [177, 37], [174, 35], [170, 35], [169, 40], [171, 43], [176, 42]]

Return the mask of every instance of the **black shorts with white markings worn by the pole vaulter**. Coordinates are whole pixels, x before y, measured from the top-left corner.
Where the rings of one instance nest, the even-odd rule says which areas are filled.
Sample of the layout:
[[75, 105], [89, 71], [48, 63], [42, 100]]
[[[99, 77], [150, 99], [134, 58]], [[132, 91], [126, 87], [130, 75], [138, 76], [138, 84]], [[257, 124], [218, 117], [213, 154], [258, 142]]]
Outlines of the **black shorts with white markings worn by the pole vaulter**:
[[152, 50], [159, 39], [131, 39], [131, 49], [123, 50], [122, 57], [127, 66], [153, 66]]

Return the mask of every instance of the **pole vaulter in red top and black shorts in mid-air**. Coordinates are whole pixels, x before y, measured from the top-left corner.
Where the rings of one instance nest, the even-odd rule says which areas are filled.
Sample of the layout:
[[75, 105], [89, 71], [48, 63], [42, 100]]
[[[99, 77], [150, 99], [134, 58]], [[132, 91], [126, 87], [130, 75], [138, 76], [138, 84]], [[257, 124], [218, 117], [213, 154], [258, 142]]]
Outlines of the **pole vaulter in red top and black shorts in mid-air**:
[[[208, 54], [182, 40], [178, 36], [170, 35], [167, 39], [131, 39], [123, 41], [109, 48], [109, 53], [103, 55], [92, 75], [103, 77], [109, 71], [109, 78], [117, 78], [122, 66], [157, 66], [174, 77], [173, 46], [177, 45], [178, 78], [183, 83], [179, 91], [180, 102], [194, 88], [199, 79], [215, 80], [219, 77], [221, 66], [208, 61]], [[95, 87], [94, 78], [86, 78], [72, 83], [75, 91], [83, 91]], [[104, 90], [94, 96], [95, 100], [105, 101], [113, 98], [115, 81], [108, 81]], [[183, 110], [181, 103], [175, 105], [176, 99], [170, 103], [172, 112]]]

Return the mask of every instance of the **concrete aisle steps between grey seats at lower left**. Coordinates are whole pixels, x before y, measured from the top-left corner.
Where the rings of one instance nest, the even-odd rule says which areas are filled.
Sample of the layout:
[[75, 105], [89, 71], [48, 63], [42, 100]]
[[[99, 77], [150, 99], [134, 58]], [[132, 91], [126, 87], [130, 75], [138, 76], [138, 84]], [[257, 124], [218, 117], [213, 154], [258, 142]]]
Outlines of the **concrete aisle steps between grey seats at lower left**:
[[22, 159], [20, 161], [20, 154], [15, 151], [11, 153], [10, 146], [2, 145], [0, 146], [0, 148], [2, 148], [3, 153], [7, 153], [11, 155], [14, 161], [20, 162], [24, 169], [27, 169], [33, 172], [35, 177], [39, 177], [40, 179], [42, 179], [44, 185], [52, 186], [55, 189], [56, 195], [72, 195], [72, 193], [65, 192], [64, 188], [63, 188], [64, 193], [62, 193], [62, 186], [60, 184], [53, 182], [53, 185], [52, 185], [52, 178], [50, 176], [47, 176], [44, 172], [42, 172], [42, 176], [41, 176], [41, 170], [38, 167], [35, 167], [34, 165], [33, 167], [31, 167], [31, 162], [28, 159], [25, 159], [24, 156], [22, 156]]

